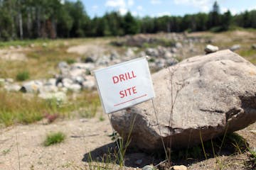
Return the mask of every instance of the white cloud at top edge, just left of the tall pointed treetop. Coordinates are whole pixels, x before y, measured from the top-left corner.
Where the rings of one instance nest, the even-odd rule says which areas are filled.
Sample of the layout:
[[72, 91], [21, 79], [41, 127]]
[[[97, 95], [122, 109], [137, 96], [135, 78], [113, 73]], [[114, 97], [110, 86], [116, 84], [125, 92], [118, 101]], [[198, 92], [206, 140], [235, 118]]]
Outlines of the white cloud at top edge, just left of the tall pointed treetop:
[[210, 11], [210, 8], [213, 6], [215, 0], [174, 0], [175, 4], [194, 6], [200, 8], [203, 12]]

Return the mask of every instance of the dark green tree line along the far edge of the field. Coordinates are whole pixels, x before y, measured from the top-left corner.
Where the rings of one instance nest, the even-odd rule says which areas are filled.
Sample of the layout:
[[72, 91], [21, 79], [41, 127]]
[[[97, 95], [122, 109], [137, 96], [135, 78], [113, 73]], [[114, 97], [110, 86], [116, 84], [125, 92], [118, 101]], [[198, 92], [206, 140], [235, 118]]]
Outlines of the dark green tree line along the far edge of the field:
[[256, 28], [256, 10], [233, 16], [220, 13], [216, 1], [209, 13], [185, 16], [141, 18], [112, 11], [90, 18], [81, 1], [68, 0], [0, 0], [0, 13], [0, 40]]

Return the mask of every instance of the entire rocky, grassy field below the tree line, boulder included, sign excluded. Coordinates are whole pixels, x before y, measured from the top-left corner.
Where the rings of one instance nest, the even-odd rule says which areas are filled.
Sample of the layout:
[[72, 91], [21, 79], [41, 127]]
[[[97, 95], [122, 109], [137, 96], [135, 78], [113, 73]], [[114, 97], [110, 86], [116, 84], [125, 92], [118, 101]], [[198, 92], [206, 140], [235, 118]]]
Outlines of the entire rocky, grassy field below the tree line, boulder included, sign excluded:
[[[91, 71], [137, 57], [146, 57], [154, 74], [160, 123], [149, 102], [122, 113], [131, 118], [112, 116], [114, 129], [123, 134], [122, 128], [129, 130], [126, 119], [139, 115], [123, 169], [150, 164], [147, 169], [256, 168], [255, 30], [0, 46], [0, 169], [119, 169], [110, 120], [102, 113]], [[198, 55], [205, 56], [191, 58]], [[163, 80], [173, 69], [173, 93], [180, 96], [170, 104], [164, 90], [171, 84]], [[173, 114], [171, 124], [167, 113]], [[120, 127], [123, 121], [128, 124]], [[156, 135], [158, 124], [163, 134]], [[65, 139], [46, 147], [50, 132], [62, 132]], [[163, 162], [161, 135], [166, 146], [174, 135], [176, 149], [166, 148], [171, 165]]]

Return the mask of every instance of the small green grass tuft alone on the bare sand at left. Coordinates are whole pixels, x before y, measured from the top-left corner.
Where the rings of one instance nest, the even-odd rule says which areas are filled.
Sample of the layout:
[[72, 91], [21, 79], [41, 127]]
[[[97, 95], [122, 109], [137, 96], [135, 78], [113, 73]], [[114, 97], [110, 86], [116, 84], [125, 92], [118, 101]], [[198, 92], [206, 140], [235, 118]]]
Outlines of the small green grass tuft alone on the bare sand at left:
[[47, 135], [46, 140], [43, 145], [48, 147], [50, 145], [55, 145], [61, 143], [65, 140], [65, 134], [63, 132], [51, 132]]

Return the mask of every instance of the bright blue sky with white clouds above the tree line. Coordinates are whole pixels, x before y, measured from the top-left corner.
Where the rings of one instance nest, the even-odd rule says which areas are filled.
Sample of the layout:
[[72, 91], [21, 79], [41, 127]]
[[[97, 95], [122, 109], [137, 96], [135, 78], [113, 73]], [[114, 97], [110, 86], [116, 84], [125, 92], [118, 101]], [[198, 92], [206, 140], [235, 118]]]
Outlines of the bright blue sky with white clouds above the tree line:
[[[76, 1], [76, 0], [73, 0]], [[122, 15], [130, 11], [134, 16], [183, 16], [187, 13], [208, 12], [215, 0], [80, 0], [85, 11], [93, 18], [107, 11], [119, 11]], [[256, 9], [256, 0], [218, 0], [220, 12], [228, 9], [234, 15], [245, 10]]]

